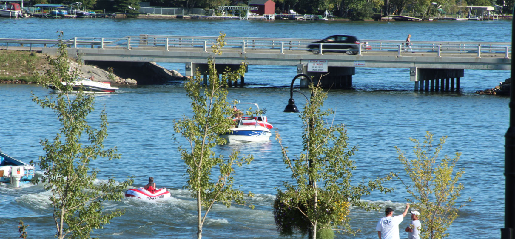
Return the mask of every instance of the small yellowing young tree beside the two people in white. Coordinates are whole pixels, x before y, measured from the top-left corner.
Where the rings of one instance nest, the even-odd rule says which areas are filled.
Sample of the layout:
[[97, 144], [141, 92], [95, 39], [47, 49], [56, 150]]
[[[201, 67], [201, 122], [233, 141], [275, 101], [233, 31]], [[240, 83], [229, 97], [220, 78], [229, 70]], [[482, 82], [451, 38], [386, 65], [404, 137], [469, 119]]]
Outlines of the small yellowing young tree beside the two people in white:
[[[445, 233], [454, 219], [458, 217], [458, 211], [465, 206], [461, 204], [456, 208], [456, 200], [461, 195], [464, 185], [458, 183], [458, 179], [464, 173], [463, 169], [454, 172], [456, 162], [461, 153], [457, 152], [453, 158], [445, 155], [438, 159], [439, 153], [445, 144], [447, 136], [441, 137], [439, 144], [433, 146], [433, 135], [426, 132], [424, 145], [418, 139], [410, 138], [416, 145], [413, 147], [415, 158], [408, 160], [400, 148], [397, 149], [399, 161], [413, 184], [401, 180], [406, 186], [407, 192], [412, 198], [407, 199], [413, 203], [413, 208], [420, 209], [419, 220], [422, 223], [421, 237], [424, 239], [440, 239], [449, 235]], [[400, 179], [400, 177], [398, 177]], [[472, 201], [470, 198], [466, 202]]]

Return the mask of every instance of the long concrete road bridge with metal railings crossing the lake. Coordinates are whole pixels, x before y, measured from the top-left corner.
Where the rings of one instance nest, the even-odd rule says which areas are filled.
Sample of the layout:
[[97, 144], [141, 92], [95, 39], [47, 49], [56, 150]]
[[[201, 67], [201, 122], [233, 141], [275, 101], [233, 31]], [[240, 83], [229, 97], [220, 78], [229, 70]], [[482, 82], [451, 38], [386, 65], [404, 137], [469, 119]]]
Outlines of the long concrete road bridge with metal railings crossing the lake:
[[[217, 37], [139, 35], [123, 38], [74, 37], [63, 40], [70, 55], [84, 61], [185, 63], [186, 76], [199, 69], [207, 74], [207, 59]], [[511, 42], [362, 40], [334, 49], [319, 39], [226, 37], [219, 69], [248, 65], [296, 66], [298, 73], [322, 78], [324, 87], [352, 86], [355, 67], [410, 69], [415, 90], [459, 90], [465, 69], [510, 70]], [[57, 54], [56, 39], [0, 39], [0, 49]], [[353, 47], [350, 47], [350, 46]], [[317, 53], [317, 54], [315, 54]], [[315, 62], [315, 63], [314, 63]], [[316, 64], [318, 67], [314, 67]], [[242, 79], [243, 80], [243, 79]], [[425, 83], [425, 84], [424, 84]], [[305, 86], [306, 81], [301, 82]], [[425, 85], [425, 87], [424, 87]], [[441, 87], [439, 87], [441, 86]]]

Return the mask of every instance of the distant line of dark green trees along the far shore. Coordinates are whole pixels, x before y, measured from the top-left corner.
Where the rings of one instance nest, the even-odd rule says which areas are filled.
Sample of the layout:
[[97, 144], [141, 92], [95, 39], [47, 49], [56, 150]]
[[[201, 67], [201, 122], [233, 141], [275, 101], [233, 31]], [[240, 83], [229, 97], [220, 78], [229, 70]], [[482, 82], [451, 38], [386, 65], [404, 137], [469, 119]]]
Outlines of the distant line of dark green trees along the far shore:
[[[497, 13], [511, 14], [514, 0], [274, 0], [276, 13], [294, 10], [299, 14], [323, 14], [329, 11], [335, 17], [352, 20], [370, 19], [381, 15], [409, 15], [427, 18], [438, 14], [468, 14], [465, 6], [500, 6]], [[34, 0], [33, 4], [71, 4], [70, 0]], [[83, 0], [85, 9], [110, 12], [138, 12], [140, 2], [150, 6], [176, 8], [216, 9], [218, 6], [247, 6], [246, 0]], [[260, 1], [263, 2], [263, 1]], [[252, 0], [250, 0], [252, 3]]]

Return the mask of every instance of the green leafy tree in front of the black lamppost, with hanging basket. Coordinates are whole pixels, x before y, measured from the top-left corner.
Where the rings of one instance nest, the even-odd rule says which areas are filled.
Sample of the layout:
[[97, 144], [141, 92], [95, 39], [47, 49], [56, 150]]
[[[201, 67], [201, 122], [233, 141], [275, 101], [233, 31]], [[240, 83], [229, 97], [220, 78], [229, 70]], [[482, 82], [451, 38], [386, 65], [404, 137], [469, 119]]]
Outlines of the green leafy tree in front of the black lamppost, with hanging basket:
[[276, 225], [282, 235], [300, 232], [317, 238], [317, 232], [328, 234], [328, 230], [355, 234], [357, 230], [351, 228], [349, 217], [352, 206], [367, 211], [379, 209], [361, 197], [371, 190], [391, 192], [382, 186], [390, 176], [352, 183], [356, 166], [350, 157], [357, 148], [348, 147], [344, 125], [325, 121], [334, 114], [331, 109], [322, 110], [327, 93], [318, 85], [310, 85], [310, 90], [314, 96], [300, 115], [304, 130], [301, 154], [289, 157], [287, 147], [276, 134], [292, 179], [283, 182], [284, 190], [278, 189], [273, 211]]

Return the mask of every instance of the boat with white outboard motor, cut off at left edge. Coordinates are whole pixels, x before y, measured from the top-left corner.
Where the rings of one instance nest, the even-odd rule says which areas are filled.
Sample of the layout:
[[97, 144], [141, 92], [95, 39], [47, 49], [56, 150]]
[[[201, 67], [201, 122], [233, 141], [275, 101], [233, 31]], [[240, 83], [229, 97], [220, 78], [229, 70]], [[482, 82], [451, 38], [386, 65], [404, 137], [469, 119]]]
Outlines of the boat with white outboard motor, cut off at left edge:
[[34, 166], [0, 152], [0, 182], [20, 187], [34, 177]]

